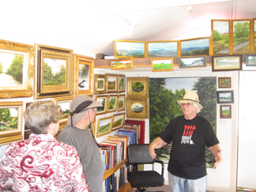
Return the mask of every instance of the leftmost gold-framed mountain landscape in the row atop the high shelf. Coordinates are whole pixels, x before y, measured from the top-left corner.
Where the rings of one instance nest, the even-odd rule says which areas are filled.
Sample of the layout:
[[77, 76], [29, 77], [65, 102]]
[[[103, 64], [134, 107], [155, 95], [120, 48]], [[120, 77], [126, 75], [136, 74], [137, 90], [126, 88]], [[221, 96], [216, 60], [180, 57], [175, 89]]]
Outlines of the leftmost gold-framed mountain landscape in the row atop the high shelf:
[[145, 58], [145, 41], [115, 40], [115, 58]]

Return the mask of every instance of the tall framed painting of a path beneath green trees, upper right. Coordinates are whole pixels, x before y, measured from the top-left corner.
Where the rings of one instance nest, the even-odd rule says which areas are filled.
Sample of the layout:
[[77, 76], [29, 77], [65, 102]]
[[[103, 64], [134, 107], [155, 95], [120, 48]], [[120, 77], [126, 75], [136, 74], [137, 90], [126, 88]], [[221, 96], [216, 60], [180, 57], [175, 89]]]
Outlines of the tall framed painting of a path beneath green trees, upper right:
[[232, 20], [232, 54], [250, 54], [251, 20]]

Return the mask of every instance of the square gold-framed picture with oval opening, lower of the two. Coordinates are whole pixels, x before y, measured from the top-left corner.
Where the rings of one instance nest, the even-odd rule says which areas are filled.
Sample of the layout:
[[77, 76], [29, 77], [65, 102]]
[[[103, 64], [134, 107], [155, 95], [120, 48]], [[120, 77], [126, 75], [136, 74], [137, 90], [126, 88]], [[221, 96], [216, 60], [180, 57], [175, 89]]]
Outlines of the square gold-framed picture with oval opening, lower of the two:
[[126, 117], [148, 119], [149, 99], [126, 98]]

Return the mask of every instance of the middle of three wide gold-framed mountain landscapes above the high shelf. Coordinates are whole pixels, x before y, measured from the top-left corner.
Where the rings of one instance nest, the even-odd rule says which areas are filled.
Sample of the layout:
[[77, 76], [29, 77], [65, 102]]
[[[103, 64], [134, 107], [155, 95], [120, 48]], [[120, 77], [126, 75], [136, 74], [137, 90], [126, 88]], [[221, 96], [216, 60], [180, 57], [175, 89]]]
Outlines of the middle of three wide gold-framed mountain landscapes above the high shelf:
[[146, 57], [176, 57], [178, 56], [179, 41], [147, 41], [146, 42]]

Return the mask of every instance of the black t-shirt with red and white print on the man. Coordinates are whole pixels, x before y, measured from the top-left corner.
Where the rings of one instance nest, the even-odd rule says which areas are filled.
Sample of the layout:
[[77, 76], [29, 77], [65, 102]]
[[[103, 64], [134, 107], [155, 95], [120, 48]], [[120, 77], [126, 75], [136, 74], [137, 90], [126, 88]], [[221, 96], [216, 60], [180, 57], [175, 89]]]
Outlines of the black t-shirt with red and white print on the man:
[[196, 116], [187, 120], [180, 116], [169, 122], [160, 138], [170, 143], [171, 154], [168, 171], [184, 179], [199, 179], [206, 174], [205, 145], [219, 143], [210, 123]]

